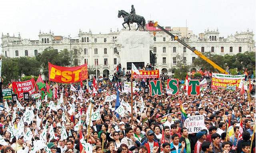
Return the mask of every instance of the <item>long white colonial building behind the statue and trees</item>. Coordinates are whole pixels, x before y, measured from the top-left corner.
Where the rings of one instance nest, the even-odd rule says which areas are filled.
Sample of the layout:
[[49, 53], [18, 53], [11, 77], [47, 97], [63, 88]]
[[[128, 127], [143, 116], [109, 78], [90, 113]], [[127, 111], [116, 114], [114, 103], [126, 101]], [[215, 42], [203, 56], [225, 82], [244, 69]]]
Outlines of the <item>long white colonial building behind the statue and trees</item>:
[[[131, 27], [134, 29], [134, 27]], [[180, 31], [174, 31], [170, 27], [167, 30], [181, 37]], [[107, 34], [93, 34], [92, 31], [79, 31], [78, 37], [67, 38], [55, 36], [53, 32], [39, 32], [38, 40], [22, 39], [2, 34], [2, 55], [6, 57], [37, 56], [47, 47], [53, 47], [58, 51], [70, 49], [75, 53], [79, 51], [80, 59], [75, 60], [73, 65], [88, 64], [88, 67], [96, 71], [100, 76], [113, 74], [116, 66], [121, 63], [122, 68], [130, 70], [130, 63], [150, 63], [150, 51], [156, 57], [155, 68], [162, 73], [171, 73], [170, 69], [176, 66], [177, 55], [184, 63], [190, 65], [197, 57], [192, 51], [174, 41], [169, 35], [146, 25], [147, 31], [121, 31], [110, 30]], [[178, 29], [178, 28], [176, 28]], [[154, 37], [153, 31], [156, 31]], [[197, 35], [189, 33], [183, 37], [184, 41], [201, 52], [211, 52], [219, 55], [244, 53], [255, 51], [253, 32], [236, 32], [234, 35], [222, 37], [217, 30], [205, 30]]]

